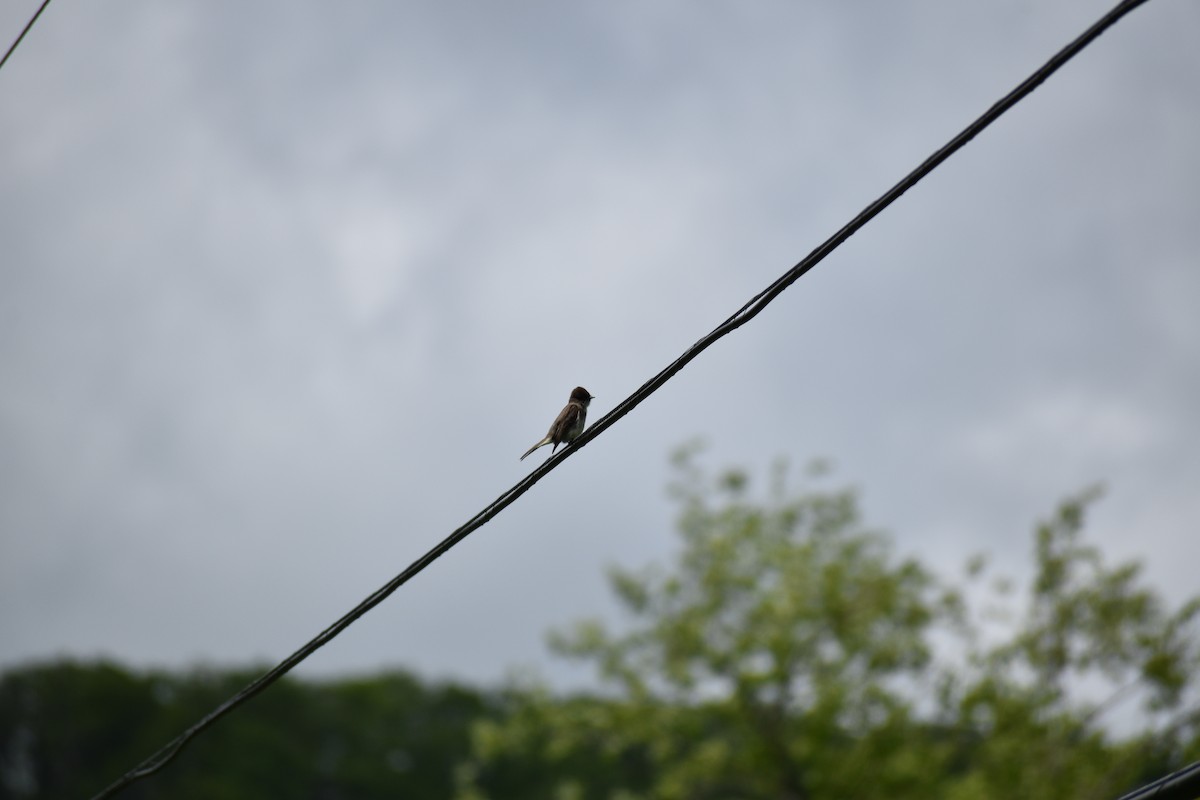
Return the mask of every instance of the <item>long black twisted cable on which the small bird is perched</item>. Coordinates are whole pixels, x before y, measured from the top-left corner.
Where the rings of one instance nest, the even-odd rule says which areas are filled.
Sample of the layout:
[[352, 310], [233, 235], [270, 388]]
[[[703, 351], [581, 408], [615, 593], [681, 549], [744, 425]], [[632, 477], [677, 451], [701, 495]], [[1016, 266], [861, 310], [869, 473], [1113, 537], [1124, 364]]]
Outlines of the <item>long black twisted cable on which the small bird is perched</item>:
[[648, 381], [642, 384], [642, 386], [625, 398], [619, 405], [604, 415], [595, 425], [584, 431], [578, 439], [576, 439], [569, 447], [563, 452], [551, 456], [546, 459], [541, 467], [535, 469], [528, 476], [526, 476], [521, 482], [514, 486], [511, 489], [493, 500], [487, 507], [476, 513], [474, 517], [468, 519], [462, 527], [455, 530], [452, 534], [446, 536], [440, 543], [433, 547], [428, 553], [421, 558], [413, 561], [407, 570], [397, 575], [395, 578], [385, 583], [383, 587], [372, 593], [366, 600], [355, 606], [344, 616], [338, 619], [336, 622], [322, 631], [316, 638], [308, 642], [306, 645], [293, 652], [290, 656], [280, 662], [270, 672], [265, 673], [262, 678], [253, 681], [240, 692], [234, 694], [232, 698], [218, 705], [199, 722], [193, 724], [191, 728], [181, 733], [173, 741], [167, 744], [162, 750], [156, 752], [154, 756], [138, 764], [136, 768], [121, 776], [116, 782], [106, 788], [103, 792], [97, 794], [92, 800], [102, 800], [103, 798], [110, 798], [116, 794], [128, 784], [137, 780], [144, 778], [154, 772], [158, 771], [166, 766], [180, 751], [198, 734], [204, 732], [217, 720], [229, 714], [235, 708], [254, 697], [268, 686], [277, 681], [280, 678], [286, 675], [292, 670], [293, 667], [299, 664], [301, 661], [311, 656], [318, 649], [324, 646], [330, 639], [344, 631], [350, 626], [356, 619], [366, 614], [368, 610], [382, 603], [389, 595], [400, 589], [402, 585], [408, 583], [416, 573], [427, 567], [430, 564], [440, 558], [446, 551], [461, 542], [472, 531], [482, 527], [488, 519], [498, 515], [505, 507], [508, 507], [514, 500], [533, 488], [534, 483], [540, 481], [546, 476], [550, 470], [558, 467], [565, 459], [578, 452], [584, 445], [587, 445], [592, 439], [600, 435], [608, 427], [614, 425], [617, 420], [625, 416], [632, 411], [642, 401], [653, 395], [659, 390], [662, 384], [668, 381], [677, 372], [683, 369], [692, 359], [698, 356], [701, 353], [707, 350], [718, 339], [732, 333], [737, 329], [745, 325], [748, 321], [758, 315], [758, 313], [766, 308], [772, 300], [778, 297], [780, 293], [787, 287], [793, 284], [800, 276], [816, 266], [826, 255], [832, 253], [838, 248], [844, 241], [850, 239], [859, 228], [870, 222], [876, 215], [878, 215], [883, 209], [888, 207], [894, 203], [901, 194], [907, 192], [910, 188], [917, 185], [922, 178], [928, 175], [938, 164], [950, 157], [956, 150], [962, 148], [967, 142], [973, 139], [979, 134], [985, 127], [991, 125], [1000, 118], [1001, 114], [1007, 112], [1009, 108], [1015, 106], [1022, 97], [1032, 92], [1043, 80], [1054, 74], [1061, 66], [1067, 64], [1072, 58], [1074, 58], [1080, 50], [1087, 47], [1093, 40], [1096, 40], [1100, 34], [1111, 28], [1124, 17], [1127, 13], [1136, 8], [1138, 6], [1146, 2], [1146, 0], [1122, 0], [1112, 8], [1109, 13], [1102, 17], [1094, 25], [1084, 31], [1075, 41], [1070, 42], [1067, 47], [1061, 49], [1054, 55], [1049, 61], [1046, 61], [1042, 67], [1039, 67], [1033, 74], [1026, 78], [1016, 89], [1010, 91], [1003, 98], [1001, 98], [996, 104], [989, 108], [979, 119], [968, 125], [961, 133], [950, 139], [941, 150], [926, 158], [917, 169], [912, 170], [904, 180], [893, 186], [887, 191], [886, 194], [880, 197], [877, 200], [866, 206], [857, 217], [846, 223], [838, 233], [830, 236], [823, 245], [817, 247], [815, 251], [809, 253], [804, 260], [790, 269], [787, 272], [781, 275], [774, 283], [760, 291], [757, 295], [750, 299], [742, 308], [739, 308], [732, 317], [726, 319], [724, 323], [718, 325], [710, 333], [701, 338], [698, 342], [688, 348], [683, 355], [672, 361], [665, 369], [659, 374], [650, 378]]

